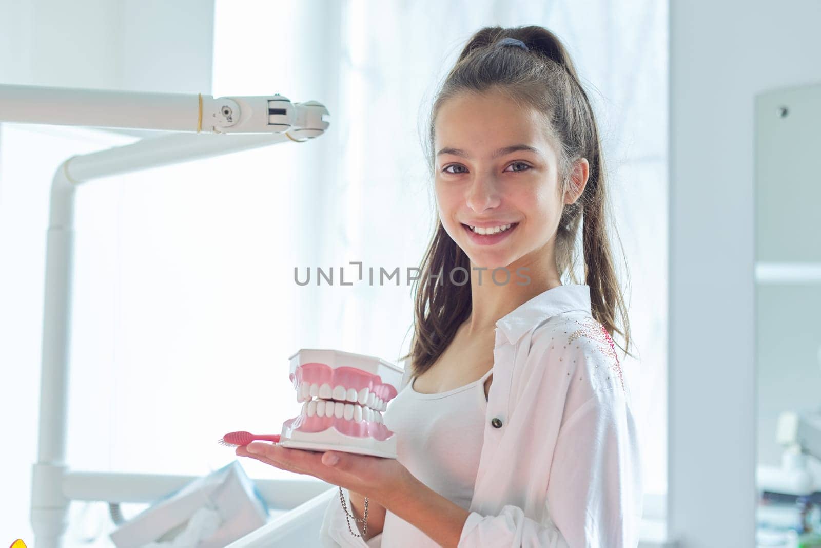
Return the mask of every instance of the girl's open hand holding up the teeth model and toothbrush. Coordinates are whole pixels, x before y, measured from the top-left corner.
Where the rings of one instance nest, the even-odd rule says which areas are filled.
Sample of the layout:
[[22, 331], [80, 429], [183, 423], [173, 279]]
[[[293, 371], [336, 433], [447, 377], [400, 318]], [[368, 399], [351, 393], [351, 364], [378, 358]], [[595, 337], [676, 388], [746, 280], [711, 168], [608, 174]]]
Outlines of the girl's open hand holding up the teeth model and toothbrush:
[[[249, 450], [250, 449], [250, 450]], [[298, 474], [308, 474], [359, 493], [390, 509], [417, 481], [395, 458], [372, 457], [344, 451], [290, 449], [254, 441], [236, 448], [236, 454]], [[333, 463], [337, 458], [337, 463]]]

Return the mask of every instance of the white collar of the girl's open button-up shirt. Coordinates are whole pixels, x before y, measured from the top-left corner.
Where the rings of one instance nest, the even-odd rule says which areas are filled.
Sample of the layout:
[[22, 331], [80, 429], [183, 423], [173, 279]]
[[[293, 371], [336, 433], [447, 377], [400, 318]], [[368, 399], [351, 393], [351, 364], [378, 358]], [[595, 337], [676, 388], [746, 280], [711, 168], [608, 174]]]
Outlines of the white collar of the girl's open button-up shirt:
[[539, 325], [550, 316], [566, 311], [580, 310], [591, 314], [590, 286], [585, 283], [565, 283], [532, 297], [519, 305], [496, 326], [511, 344], [516, 344], [522, 335]]

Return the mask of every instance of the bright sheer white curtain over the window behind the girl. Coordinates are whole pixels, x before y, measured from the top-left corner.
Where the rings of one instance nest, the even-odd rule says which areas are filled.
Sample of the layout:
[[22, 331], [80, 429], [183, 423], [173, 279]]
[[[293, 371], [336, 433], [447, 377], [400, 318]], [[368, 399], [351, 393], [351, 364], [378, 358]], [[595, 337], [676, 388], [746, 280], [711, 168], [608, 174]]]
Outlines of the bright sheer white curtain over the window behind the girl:
[[[287, 357], [299, 348], [389, 360], [406, 352], [407, 269], [419, 264], [435, 219], [420, 144], [433, 92], [475, 30], [534, 24], [564, 40], [599, 115], [640, 356], [623, 366], [647, 491], [663, 493], [667, 2], [277, 2], [276, 24], [269, 2], [241, 3], [241, 12], [262, 15], [238, 24], [236, 2], [218, 0], [212, 94], [316, 99], [331, 127], [309, 143], [80, 189], [67, 463], [204, 474], [234, 458], [215, 443], [223, 433], [275, 433], [299, 412], [287, 380]], [[317, 28], [334, 29], [321, 48]], [[14, 400], [27, 425], [16, 445], [28, 462], [36, 456], [48, 184], [71, 154], [131, 140], [2, 125], [0, 365], [6, 386], [12, 371], [28, 371]], [[361, 261], [361, 280], [351, 261]], [[300, 279], [310, 269], [309, 285], [296, 284], [295, 267]], [[318, 267], [333, 267], [333, 285], [317, 287]], [[341, 284], [342, 267], [352, 285]], [[397, 268], [398, 287], [395, 278], [379, 285], [380, 269]], [[291, 477], [243, 465], [252, 477]], [[15, 481], [29, 489], [30, 467]], [[28, 525], [27, 506], [8, 515]], [[98, 521], [77, 523], [72, 504], [72, 516], [70, 542], [105, 529], [103, 510]], [[5, 527], [6, 536], [20, 535]], [[110, 546], [105, 536], [97, 542]]]

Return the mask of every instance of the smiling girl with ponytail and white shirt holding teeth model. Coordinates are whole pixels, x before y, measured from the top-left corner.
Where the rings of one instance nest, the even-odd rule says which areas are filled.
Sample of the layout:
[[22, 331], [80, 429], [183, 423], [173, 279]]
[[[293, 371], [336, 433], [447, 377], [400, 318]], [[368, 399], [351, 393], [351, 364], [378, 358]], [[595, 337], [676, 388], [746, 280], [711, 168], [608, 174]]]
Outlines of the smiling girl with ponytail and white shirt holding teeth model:
[[[384, 417], [397, 459], [237, 454], [340, 486], [326, 546], [637, 546], [639, 440], [610, 335], [629, 355], [629, 322], [599, 131], [562, 42], [540, 26], [475, 33], [428, 145], [438, 225]], [[563, 283], [579, 236], [585, 283]]]

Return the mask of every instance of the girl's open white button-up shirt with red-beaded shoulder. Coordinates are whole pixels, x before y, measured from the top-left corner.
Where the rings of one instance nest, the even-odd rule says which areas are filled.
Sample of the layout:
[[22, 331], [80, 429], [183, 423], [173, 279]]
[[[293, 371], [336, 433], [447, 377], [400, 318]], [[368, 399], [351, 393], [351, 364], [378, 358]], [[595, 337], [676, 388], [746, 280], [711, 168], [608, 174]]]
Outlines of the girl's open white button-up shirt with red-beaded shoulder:
[[[639, 434], [612, 340], [591, 314], [589, 286], [548, 289], [496, 325], [479, 469], [458, 548], [635, 548]], [[409, 377], [406, 366], [400, 390]], [[351, 535], [334, 497], [320, 537], [325, 546], [378, 548], [383, 533], [368, 543]]]

